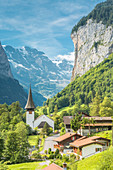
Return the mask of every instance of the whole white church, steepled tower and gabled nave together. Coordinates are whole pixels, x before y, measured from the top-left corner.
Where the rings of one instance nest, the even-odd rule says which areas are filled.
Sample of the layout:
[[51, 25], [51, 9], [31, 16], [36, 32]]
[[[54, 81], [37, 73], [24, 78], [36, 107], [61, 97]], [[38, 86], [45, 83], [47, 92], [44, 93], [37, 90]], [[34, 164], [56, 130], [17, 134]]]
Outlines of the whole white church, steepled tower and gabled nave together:
[[36, 127], [43, 128], [44, 124], [47, 123], [50, 127], [52, 127], [54, 132], [54, 121], [48, 116], [40, 115], [39, 117], [34, 119], [35, 105], [32, 98], [31, 86], [29, 89], [29, 95], [28, 95], [28, 100], [25, 109], [26, 109], [26, 124], [29, 125], [32, 129]]

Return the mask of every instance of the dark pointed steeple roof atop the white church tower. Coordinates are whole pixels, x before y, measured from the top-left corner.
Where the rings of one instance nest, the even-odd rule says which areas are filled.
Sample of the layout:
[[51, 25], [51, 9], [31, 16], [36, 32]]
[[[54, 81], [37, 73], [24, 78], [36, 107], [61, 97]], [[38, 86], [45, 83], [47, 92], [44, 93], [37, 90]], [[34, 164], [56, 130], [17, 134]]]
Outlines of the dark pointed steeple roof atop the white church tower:
[[25, 106], [25, 109], [35, 109], [35, 105], [34, 105], [33, 98], [32, 98], [31, 85], [30, 85], [29, 95], [28, 95], [27, 104]]

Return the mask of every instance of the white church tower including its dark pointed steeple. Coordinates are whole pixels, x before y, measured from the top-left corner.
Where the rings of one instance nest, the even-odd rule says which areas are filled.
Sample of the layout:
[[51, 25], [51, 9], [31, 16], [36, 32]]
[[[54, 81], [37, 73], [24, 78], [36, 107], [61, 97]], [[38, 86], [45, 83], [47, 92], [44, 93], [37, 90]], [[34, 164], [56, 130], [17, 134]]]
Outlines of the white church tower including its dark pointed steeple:
[[27, 104], [25, 106], [25, 109], [27, 110], [27, 112], [26, 112], [26, 124], [29, 125], [33, 129], [33, 127], [34, 127], [35, 105], [34, 105], [33, 98], [32, 98], [31, 85], [30, 85], [28, 100], [27, 100]]

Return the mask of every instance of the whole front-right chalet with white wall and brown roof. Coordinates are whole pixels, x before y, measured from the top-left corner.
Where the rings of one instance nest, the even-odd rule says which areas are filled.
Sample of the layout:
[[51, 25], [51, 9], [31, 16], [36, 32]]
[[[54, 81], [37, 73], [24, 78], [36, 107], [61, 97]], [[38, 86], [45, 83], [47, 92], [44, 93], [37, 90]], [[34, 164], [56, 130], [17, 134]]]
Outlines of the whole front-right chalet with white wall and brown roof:
[[86, 137], [83, 136], [74, 142], [70, 143], [73, 147], [73, 152], [84, 157], [89, 157], [97, 152], [104, 151], [110, 145], [110, 140], [99, 136]]

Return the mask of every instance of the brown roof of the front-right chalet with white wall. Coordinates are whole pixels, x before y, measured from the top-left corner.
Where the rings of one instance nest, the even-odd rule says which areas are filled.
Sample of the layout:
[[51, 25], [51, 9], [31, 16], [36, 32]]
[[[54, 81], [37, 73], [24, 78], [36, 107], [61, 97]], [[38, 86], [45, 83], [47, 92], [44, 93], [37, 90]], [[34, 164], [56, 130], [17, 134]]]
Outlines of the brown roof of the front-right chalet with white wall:
[[109, 139], [106, 138], [102, 138], [100, 136], [93, 136], [93, 137], [86, 137], [86, 138], [79, 138], [77, 140], [75, 140], [74, 142], [70, 143], [70, 146], [74, 146], [76, 148], [81, 148], [83, 146], [89, 145], [89, 144], [100, 144], [100, 145], [104, 145], [104, 143], [98, 141], [98, 140], [106, 140], [106, 141], [110, 141]]

